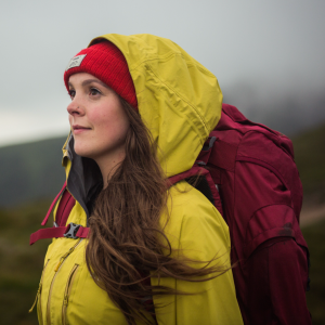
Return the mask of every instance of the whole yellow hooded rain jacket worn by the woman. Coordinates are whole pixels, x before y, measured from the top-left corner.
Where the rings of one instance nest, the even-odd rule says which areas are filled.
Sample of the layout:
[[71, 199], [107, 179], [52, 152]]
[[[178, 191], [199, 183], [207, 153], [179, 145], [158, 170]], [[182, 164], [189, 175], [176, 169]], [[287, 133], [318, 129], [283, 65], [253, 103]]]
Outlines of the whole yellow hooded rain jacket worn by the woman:
[[[131, 73], [139, 112], [157, 142], [168, 177], [190, 169], [221, 115], [222, 93], [216, 77], [172, 41], [152, 35], [104, 35], [123, 53]], [[73, 138], [64, 148], [67, 188], [76, 198], [67, 224], [87, 226], [84, 199], [92, 180], [82, 179], [82, 158], [74, 154]], [[78, 171], [79, 169], [79, 171]], [[83, 170], [84, 171], [84, 170]], [[75, 193], [69, 187], [70, 179]], [[72, 185], [73, 186], [73, 185]], [[185, 181], [170, 188], [170, 220], [165, 227], [173, 248], [192, 259], [230, 265], [229, 229], [212, 204]], [[81, 190], [80, 190], [81, 188]], [[86, 190], [84, 190], [86, 188]], [[190, 191], [188, 191], [190, 190]], [[83, 191], [83, 192], [82, 192]], [[55, 218], [55, 210], [54, 210]], [[161, 225], [166, 216], [161, 216]], [[126, 325], [120, 310], [94, 283], [86, 265], [87, 239], [54, 238], [49, 246], [38, 295], [40, 324]], [[152, 285], [157, 280], [152, 278]], [[232, 271], [207, 282], [161, 278], [160, 284], [193, 292], [154, 297], [159, 325], [240, 325]]]

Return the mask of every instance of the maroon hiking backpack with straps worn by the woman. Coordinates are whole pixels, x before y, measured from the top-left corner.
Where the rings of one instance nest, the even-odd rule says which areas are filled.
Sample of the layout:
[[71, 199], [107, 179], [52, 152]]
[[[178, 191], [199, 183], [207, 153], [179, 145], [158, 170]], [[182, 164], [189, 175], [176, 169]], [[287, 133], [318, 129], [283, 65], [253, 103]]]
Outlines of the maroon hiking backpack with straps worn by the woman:
[[[304, 297], [309, 251], [299, 227], [302, 186], [291, 141], [223, 104], [221, 119], [193, 168], [169, 182], [193, 177], [195, 187], [229, 225], [244, 323], [310, 324]], [[65, 190], [66, 185], [42, 222], [63, 195], [56, 226], [34, 233], [30, 244], [48, 237], [87, 237], [88, 227], [66, 226], [75, 199]]]

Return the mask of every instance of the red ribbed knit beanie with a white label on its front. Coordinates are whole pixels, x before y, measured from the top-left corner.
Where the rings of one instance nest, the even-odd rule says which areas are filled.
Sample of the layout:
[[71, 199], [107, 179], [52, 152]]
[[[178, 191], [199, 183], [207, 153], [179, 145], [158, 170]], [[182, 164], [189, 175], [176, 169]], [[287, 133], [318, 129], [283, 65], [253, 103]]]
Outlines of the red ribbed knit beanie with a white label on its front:
[[102, 41], [93, 44], [70, 60], [64, 73], [67, 90], [69, 77], [78, 73], [88, 73], [99, 78], [138, 109], [135, 89], [127, 61], [112, 42]]

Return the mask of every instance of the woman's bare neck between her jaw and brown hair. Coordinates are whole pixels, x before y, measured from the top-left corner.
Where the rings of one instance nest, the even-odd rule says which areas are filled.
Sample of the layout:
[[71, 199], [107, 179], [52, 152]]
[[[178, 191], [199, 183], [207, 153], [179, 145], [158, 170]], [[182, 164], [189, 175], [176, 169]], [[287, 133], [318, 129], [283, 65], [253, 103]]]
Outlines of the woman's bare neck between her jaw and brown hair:
[[125, 159], [125, 148], [121, 148], [114, 154], [94, 158], [102, 172], [103, 190], [107, 187], [109, 179], [116, 172], [117, 168], [120, 166], [120, 162]]

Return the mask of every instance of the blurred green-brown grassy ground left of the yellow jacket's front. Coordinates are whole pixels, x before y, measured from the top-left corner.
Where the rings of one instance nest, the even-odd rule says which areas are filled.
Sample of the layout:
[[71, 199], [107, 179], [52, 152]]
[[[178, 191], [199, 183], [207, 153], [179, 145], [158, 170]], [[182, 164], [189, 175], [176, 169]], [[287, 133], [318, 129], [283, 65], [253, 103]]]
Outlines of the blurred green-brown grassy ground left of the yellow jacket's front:
[[29, 235], [40, 227], [49, 200], [0, 210], [0, 314], [1, 324], [38, 324], [28, 313], [38, 289], [50, 240], [29, 246]]

